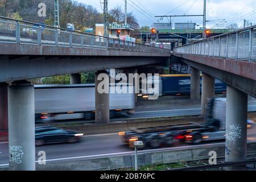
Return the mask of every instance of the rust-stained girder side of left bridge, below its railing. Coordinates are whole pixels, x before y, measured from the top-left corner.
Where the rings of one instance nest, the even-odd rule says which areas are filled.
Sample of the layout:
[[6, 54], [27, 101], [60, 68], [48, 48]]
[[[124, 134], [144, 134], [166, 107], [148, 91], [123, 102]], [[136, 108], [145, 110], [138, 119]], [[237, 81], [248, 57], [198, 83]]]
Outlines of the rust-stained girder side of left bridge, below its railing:
[[0, 43], [0, 82], [161, 64], [171, 53]]

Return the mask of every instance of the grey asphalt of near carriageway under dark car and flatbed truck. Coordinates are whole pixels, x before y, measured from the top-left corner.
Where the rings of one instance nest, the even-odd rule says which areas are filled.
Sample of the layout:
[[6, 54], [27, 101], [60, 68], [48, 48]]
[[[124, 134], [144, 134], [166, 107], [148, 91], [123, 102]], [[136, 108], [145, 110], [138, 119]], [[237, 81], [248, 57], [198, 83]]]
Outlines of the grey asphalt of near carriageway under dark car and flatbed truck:
[[[256, 125], [247, 132], [248, 142], [256, 142]], [[223, 143], [224, 141], [216, 141], [204, 144]], [[177, 144], [169, 148], [159, 148], [146, 150], [174, 150], [176, 148], [191, 147], [188, 144]], [[203, 147], [203, 146], [202, 146]], [[47, 161], [67, 160], [80, 158], [104, 158], [105, 156], [115, 156], [121, 154], [133, 154], [133, 149], [127, 147], [122, 143], [118, 134], [100, 134], [100, 135], [87, 135], [81, 138], [78, 143], [61, 143], [61, 144], [48, 144], [45, 146], [36, 147], [36, 159], [39, 151], [46, 152]], [[8, 158], [8, 143], [0, 143], [0, 166], [6, 166], [9, 163]]]

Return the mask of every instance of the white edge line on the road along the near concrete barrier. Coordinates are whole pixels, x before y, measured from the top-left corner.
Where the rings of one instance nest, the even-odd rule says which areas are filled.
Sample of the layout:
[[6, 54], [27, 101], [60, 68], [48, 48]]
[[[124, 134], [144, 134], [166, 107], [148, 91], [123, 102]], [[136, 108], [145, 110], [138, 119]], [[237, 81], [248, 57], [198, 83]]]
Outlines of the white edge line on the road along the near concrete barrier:
[[[206, 147], [206, 146], [214, 146], [218, 144], [225, 144], [224, 142], [222, 143], [210, 143], [210, 144], [201, 144], [201, 145], [196, 145], [196, 146], [180, 146], [180, 147], [171, 147], [171, 148], [157, 148], [157, 149], [152, 149], [152, 150], [142, 150], [138, 151], [138, 154], [143, 154], [144, 152], [155, 152], [155, 151], [172, 151], [176, 149], [182, 149], [182, 148], [196, 148], [196, 147]], [[40, 160], [40, 162], [51, 162], [51, 161], [59, 161], [59, 160], [69, 160], [69, 159], [81, 159], [81, 158], [95, 158], [99, 156], [112, 156], [112, 155], [122, 155], [122, 154], [132, 154], [134, 155], [134, 151], [130, 152], [118, 152], [118, 153], [112, 153], [112, 154], [98, 154], [98, 155], [87, 155], [87, 156], [76, 156], [76, 157], [70, 157], [70, 158], [57, 158], [57, 159], [48, 159], [48, 160]], [[36, 161], [38, 162], [38, 161]], [[0, 164], [0, 166], [8, 166], [9, 164]]]

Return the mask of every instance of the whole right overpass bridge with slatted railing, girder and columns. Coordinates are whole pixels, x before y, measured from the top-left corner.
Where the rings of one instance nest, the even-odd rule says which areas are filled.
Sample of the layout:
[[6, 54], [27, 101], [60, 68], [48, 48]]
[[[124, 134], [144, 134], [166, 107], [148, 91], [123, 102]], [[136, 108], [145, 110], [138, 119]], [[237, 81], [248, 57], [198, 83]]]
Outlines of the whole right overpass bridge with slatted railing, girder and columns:
[[176, 47], [174, 56], [192, 67], [192, 98], [200, 97], [203, 72], [202, 115], [207, 116], [207, 98], [214, 97], [214, 78], [226, 82], [225, 158], [245, 160], [247, 95], [256, 97], [256, 26]]

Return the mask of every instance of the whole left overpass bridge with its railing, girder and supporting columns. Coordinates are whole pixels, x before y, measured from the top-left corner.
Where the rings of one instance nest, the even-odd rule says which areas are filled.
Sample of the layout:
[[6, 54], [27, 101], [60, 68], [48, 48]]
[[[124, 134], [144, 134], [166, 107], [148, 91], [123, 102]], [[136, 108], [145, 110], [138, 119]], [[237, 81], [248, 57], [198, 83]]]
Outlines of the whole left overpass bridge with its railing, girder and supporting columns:
[[[35, 169], [34, 86], [27, 79], [72, 74], [76, 84], [80, 72], [98, 71], [97, 78], [106, 69], [163, 63], [170, 56], [170, 49], [0, 17], [0, 130], [9, 128], [10, 169]], [[109, 123], [109, 93], [95, 90], [96, 123]], [[15, 151], [22, 160], [11, 156]]]

